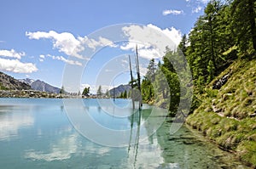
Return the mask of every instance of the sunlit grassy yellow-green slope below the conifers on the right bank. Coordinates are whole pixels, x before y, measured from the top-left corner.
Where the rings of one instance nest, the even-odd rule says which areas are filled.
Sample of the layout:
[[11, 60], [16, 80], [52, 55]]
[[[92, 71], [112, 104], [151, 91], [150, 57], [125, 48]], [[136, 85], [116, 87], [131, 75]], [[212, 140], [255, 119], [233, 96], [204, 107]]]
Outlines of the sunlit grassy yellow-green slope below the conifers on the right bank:
[[256, 60], [236, 60], [196, 97], [187, 123], [256, 166]]

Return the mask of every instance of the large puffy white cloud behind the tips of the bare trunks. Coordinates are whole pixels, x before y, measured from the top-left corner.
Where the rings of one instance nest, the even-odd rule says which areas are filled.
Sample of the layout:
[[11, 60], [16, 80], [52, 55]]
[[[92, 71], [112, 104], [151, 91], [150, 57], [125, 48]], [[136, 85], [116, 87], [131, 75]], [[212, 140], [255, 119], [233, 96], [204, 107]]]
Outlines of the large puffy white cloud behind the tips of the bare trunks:
[[[160, 51], [165, 51], [166, 46], [175, 50], [182, 37], [181, 31], [174, 27], [161, 29], [160, 27], [152, 24], [145, 26], [125, 26], [123, 31], [125, 36], [129, 38], [129, 41], [120, 48], [122, 50], [134, 51], [136, 44], [138, 44], [138, 53], [145, 59], [160, 59], [164, 55], [164, 53], [160, 54]], [[166, 39], [168, 39], [169, 42], [171, 40], [172, 43], [166, 44]], [[141, 42], [143, 42], [143, 44], [140, 44]], [[158, 44], [158, 48], [155, 44]]]

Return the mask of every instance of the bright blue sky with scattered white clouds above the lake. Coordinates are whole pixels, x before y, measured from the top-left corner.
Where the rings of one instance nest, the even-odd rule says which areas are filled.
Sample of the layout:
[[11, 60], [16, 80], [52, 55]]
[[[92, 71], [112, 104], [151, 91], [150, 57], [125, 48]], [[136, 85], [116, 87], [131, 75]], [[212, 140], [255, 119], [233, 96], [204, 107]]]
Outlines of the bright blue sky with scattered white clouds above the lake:
[[[89, 85], [92, 91], [95, 91], [98, 81], [96, 76], [101, 74], [102, 67], [105, 65], [105, 71], [110, 72], [107, 67], [113, 58], [127, 59], [127, 54], [132, 54], [134, 50], [129, 47], [129, 42], [126, 44], [111, 42], [106, 38], [108, 32], [106, 37], [98, 35], [95, 39], [89, 38], [91, 34], [94, 35], [109, 25], [137, 23], [145, 25], [145, 28], [151, 27], [163, 31], [166, 36], [173, 37], [173, 41], [178, 42], [184, 33], [189, 33], [199, 15], [203, 14], [207, 2], [207, 0], [2, 0], [0, 2], [0, 71], [15, 78], [40, 79], [61, 87], [63, 70], [72, 65], [83, 70], [79, 79], [80, 87]], [[136, 34], [131, 30], [127, 32]], [[93, 59], [88, 60], [83, 57], [79, 59], [81, 48], [87, 51], [87, 48], [95, 50], [97, 47], [102, 49]], [[142, 61], [145, 63], [142, 64], [143, 71], [148, 63], [147, 59], [154, 57], [154, 54], [148, 54], [152, 52], [149, 48], [139, 49], [142, 55], [140, 59], [145, 59]], [[148, 54], [148, 57], [143, 57], [143, 54]], [[120, 59], [119, 63], [121, 62]], [[116, 63], [110, 65], [113, 67]], [[106, 75], [104, 77], [108, 78]], [[123, 72], [115, 75], [114, 81], [116, 86], [128, 82], [129, 74]], [[108, 88], [111, 82], [104, 84], [102, 81], [102, 86]]]

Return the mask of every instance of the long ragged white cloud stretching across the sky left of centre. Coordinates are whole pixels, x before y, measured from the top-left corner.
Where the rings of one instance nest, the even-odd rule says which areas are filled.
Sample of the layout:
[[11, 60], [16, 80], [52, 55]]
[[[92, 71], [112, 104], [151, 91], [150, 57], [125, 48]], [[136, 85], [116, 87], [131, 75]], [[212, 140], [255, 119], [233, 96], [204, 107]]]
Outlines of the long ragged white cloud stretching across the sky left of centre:
[[76, 57], [78, 59], [86, 59], [80, 53], [84, 50], [84, 47], [88, 47], [92, 50], [96, 50], [97, 47], [115, 47], [113, 42], [104, 37], [99, 39], [93, 39], [88, 37], [74, 37], [69, 32], [57, 33], [55, 31], [36, 31], [26, 32], [26, 37], [29, 39], [52, 39], [53, 47], [59, 49], [59, 52], [67, 54], [68, 56]]

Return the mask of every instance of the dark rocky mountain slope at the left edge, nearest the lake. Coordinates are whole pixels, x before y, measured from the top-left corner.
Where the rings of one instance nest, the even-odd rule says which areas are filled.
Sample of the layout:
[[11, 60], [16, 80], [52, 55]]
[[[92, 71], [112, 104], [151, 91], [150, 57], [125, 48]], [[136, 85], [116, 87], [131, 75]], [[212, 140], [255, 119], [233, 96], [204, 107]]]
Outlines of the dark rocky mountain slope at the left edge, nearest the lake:
[[29, 90], [31, 87], [0, 71], [0, 90]]

